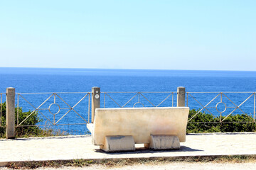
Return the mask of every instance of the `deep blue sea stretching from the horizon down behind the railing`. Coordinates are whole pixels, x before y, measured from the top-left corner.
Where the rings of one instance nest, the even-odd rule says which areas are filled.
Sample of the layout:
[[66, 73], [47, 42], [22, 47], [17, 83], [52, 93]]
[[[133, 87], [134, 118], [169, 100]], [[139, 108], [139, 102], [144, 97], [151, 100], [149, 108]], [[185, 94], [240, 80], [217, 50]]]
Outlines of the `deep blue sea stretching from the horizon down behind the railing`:
[[[201, 109], [215, 98], [213, 102], [207, 105], [208, 110], [204, 109], [203, 111], [219, 115], [225, 109], [218, 108], [220, 112], [216, 110], [216, 105], [220, 102], [220, 105], [223, 103], [226, 105], [226, 110], [222, 114], [228, 115], [235, 107], [240, 106], [247, 99], [232, 114], [245, 112], [253, 115], [255, 113], [255, 94], [253, 92], [256, 91], [256, 72], [0, 68], [0, 93], [5, 93], [7, 87], [14, 87], [17, 93], [16, 103], [23, 108], [23, 111], [33, 111], [38, 107], [38, 109], [41, 109], [38, 111], [41, 112], [39, 115], [43, 119], [42, 125], [50, 125], [64, 115], [56, 125], [59, 125], [58, 127], [61, 130], [66, 130], [73, 134], [82, 134], [87, 131], [85, 125], [70, 124], [85, 123], [84, 120], [88, 119], [88, 113], [90, 114], [88, 102], [91, 98], [89, 99], [90, 94], [86, 92], [92, 91], [93, 86], [98, 86], [101, 92], [106, 92], [100, 96], [101, 107], [124, 106], [131, 98], [132, 100], [125, 107], [133, 107], [134, 103], [138, 104], [136, 106], [141, 107], [157, 106], [164, 99], [166, 100], [160, 106], [176, 106], [177, 87], [184, 86], [186, 92], [188, 92], [186, 94], [186, 104], [190, 108]], [[53, 94], [53, 92], [58, 95]], [[81, 93], [65, 94], [63, 92]], [[113, 92], [133, 93], [117, 94]], [[142, 92], [142, 94], [137, 94], [136, 92]], [[174, 94], [171, 92], [174, 92]], [[219, 94], [220, 92], [247, 93]], [[52, 94], [53, 96], [51, 96]], [[47, 98], [49, 99], [46, 101]], [[80, 101], [81, 99], [82, 101]], [[2, 94], [2, 101], [5, 101], [5, 94]], [[46, 102], [43, 103], [44, 101]], [[79, 101], [80, 103], [78, 103]], [[51, 103], [58, 103], [58, 105], [54, 104], [49, 108]], [[60, 108], [59, 112], [58, 108]], [[70, 108], [73, 109], [69, 111]], [[49, 110], [51, 113], [49, 113]], [[69, 112], [66, 113], [67, 111]], [[58, 114], [55, 114], [57, 112]], [[53, 115], [55, 120], [52, 118]]]

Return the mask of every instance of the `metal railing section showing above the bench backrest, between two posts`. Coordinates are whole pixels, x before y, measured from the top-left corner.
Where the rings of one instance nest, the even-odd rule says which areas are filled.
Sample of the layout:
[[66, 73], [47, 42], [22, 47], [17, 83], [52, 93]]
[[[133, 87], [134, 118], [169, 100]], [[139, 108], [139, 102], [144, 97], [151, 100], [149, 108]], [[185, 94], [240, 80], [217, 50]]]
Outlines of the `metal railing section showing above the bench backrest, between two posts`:
[[[101, 92], [103, 97], [103, 108], [107, 107], [159, 107], [174, 106], [174, 94], [176, 92]], [[156, 94], [161, 97], [156, 98]], [[158, 95], [159, 96], [159, 95]], [[110, 99], [107, 101], [107, 98]], [[113, 105], [114, 103], [114, 105]], [[167, 104], [166, 104], [167, 103]]]

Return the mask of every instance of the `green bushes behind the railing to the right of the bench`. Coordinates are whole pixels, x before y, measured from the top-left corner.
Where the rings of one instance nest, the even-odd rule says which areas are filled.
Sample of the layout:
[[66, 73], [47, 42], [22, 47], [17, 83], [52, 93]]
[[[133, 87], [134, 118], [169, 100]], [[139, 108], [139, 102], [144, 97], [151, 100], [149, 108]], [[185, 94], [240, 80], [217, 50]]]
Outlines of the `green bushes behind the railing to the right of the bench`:
[[[188, 120], [193, 118], [193, 115], [198, 113], [195, 109], [189, 111]], [[225, 117], [222, 116], [221, 120]], [[233, 123], [232, 123], [233, 122]], [[198, 132], [255, 132], [256, 123], [253, 123], [251, 116], [229, 115], [223, 123], [220, 123], [220, 116], [214, 117], [208, 113], [199, 112], [194, 118], [192, 123], [188, 123], [188, 133]]]

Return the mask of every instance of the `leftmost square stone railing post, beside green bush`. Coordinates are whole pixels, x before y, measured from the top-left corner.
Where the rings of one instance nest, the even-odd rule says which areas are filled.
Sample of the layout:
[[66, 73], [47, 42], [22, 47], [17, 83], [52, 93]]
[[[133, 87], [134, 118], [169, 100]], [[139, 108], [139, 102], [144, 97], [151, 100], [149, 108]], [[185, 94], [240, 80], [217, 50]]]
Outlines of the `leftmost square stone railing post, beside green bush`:
[[15, 89], [6, 89], [6, 138], [15, 138]]

